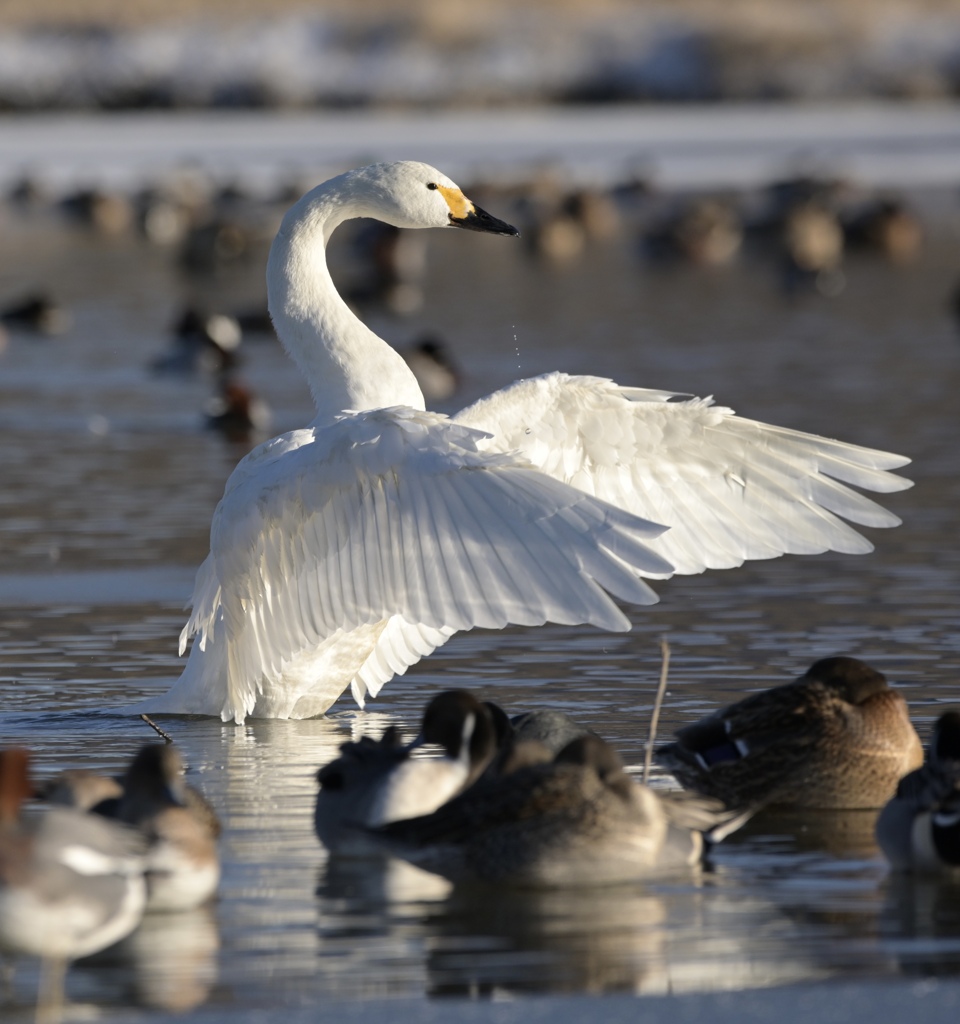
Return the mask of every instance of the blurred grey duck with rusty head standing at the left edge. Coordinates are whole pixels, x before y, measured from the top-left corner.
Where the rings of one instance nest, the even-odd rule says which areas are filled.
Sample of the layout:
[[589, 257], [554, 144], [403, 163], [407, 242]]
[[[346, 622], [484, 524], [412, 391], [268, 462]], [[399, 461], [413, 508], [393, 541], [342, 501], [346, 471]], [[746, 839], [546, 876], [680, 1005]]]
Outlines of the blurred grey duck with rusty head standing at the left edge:
[[49, 807], [28, 816], [30, 754], [0, 751], [0, 952], [43, 962], [38, 1019], [56, 1020], [68, 961], [114, 945], [146, 906], [145, 843], [94, 814]]

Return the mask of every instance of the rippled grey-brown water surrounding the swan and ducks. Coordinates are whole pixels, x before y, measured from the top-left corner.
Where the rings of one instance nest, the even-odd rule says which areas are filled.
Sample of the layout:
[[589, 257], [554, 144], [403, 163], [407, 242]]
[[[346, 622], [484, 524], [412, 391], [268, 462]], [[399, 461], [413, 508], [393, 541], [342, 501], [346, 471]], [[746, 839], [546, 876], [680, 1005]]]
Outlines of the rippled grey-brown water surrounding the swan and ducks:
[[[425, 695], [449, 686], [510, 711], [569, 710], [638, 764], [662, 636], [672, 651], [663, 732], [847, 653], [903, 687], [925, 736], [939, 706], [960, 697], [960, 345], [947, 305], [960, 236], [946, 209], [921, 262], [852, 260], [831, 299], [784, 294], [758, 256], [712, 272], [658, 269], [624, 239], [557, 269], [521, 245], [436, 232], [423, 312], [381, 326], [399, 342], [419, 326], [448, 339], [465, 401], [554, 368], [714, 393], [743, 415], [911, 455], [917, 485], [885, 501], [904, 525], [874, 531], [866, 557], [657, 584], [661, 603], [632, 611], [625, 635], [456, 636], [365, 713], [343, 700], [311, 722], [165, 720], [225, 823], [220, 899], [148, 920], [77, 965], [71, 997], [107, 1019], [212, 1009], [229, 1021], [332, 999], [715, 992], [960, 972], [960, 889], [890, 879], [871, 814], [751, 823], [689, 881], [503, 900], [399, 865], [329, 863], [311, 820], [315, 769], [339, 742], [392, 722], [411, 732]], [[209, 381], [158, 378], [145, 365], [201, 285], [233, 307], [261, 301], [263, 253], [201, 283], [137, 243], [6, 226], [4, 293], [55, 286], [75, 327], [52, 340], [14, 334], [0, 355], [0, 735], [35, 751], [40, 776], [116, 770], [151, 734], [104, 709], [179, 673], [182, 605], [244, 451], [201, 429]], [[309, 419], [306, 389], [273, 344], [248, 346], [245, 376], [278, 411], [277, 430]], [[34, 967], [21, 966], [12, 1019], [27, 1019], [35, 985]]]

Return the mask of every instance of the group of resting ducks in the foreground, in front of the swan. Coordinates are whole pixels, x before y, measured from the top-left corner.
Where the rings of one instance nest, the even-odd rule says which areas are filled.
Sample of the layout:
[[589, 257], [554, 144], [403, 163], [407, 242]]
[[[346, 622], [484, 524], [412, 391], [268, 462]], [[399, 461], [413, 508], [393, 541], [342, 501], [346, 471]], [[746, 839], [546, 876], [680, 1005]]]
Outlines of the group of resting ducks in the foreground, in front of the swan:
[[[421, 757], [433, 744], [439, 753]], [[817, 662], [681, 728], [656, 749], [683, 791], [651, 788], [600, 736], [556, 711], [509, 717], [466, 690], [428, 705], [420, 733], [345, 742], [318, 772], [314, 829], [332, 857], [397, 856], [454, 883], [636, 883], [700, 864], [770, 808], [882, 808], [893, 869], [960, 877], [960, 713], [926, 760], [901, 694], [852, 657]], [[42, 805], [24, 809], [31, 798]], [[39, 790], [29, 755], [0, 751], [0, 951], [39, 956], [40, 1019], [67, 962], [144, 913], [215, 896], [220, 823], [175, 745], [148, 743], [123, 776], [74, 770]]]

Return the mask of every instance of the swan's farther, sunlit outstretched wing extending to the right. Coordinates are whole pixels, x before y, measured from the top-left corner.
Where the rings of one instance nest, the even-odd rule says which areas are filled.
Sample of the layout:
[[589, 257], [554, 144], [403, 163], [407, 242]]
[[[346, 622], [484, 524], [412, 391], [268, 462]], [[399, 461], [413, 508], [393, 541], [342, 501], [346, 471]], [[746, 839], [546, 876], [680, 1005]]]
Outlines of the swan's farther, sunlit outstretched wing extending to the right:
[[488, 450], [516, 450], [544, 473], [669, 526], [651, 545], [678, 572], [730, 568], [750, 558], [865, 553], [843, 519], [900, 519], [847, 484], [911, 486], [888, 470], [910, 460], [740, 419], [709, 398], [548, 374], [460, 413], [487, 431]]

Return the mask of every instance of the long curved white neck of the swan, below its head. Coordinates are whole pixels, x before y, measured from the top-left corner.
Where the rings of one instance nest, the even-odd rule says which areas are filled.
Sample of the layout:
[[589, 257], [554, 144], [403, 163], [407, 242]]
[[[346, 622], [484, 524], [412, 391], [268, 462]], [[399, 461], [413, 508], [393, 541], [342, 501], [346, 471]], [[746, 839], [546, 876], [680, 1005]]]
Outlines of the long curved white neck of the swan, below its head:
[[314, 423], [328, 422], [344, 410], [425, 408], [406, 362], [353, 314], [326, 267], [334, 228], [352, 217], [377, 217], [378, 210], [377, 196], [364, 188], [362, 179], [342, 174], [291, 208], [270, 249], [270, 316], [310, 385], [317, 409]]

